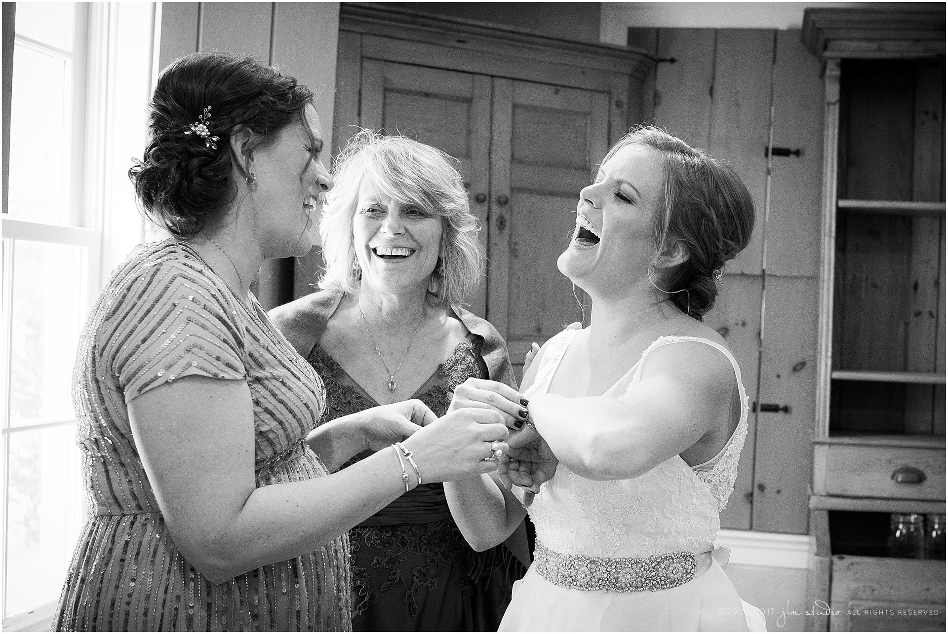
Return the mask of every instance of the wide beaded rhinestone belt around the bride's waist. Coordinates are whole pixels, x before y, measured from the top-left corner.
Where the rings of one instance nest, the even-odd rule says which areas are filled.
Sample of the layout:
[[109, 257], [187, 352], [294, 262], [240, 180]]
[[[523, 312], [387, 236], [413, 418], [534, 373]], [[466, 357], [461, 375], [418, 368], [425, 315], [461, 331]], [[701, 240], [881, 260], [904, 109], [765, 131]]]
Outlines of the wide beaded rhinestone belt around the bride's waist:
[[643, 592], [683, 586], [698, 571], [687, 551], [652, 557], [590, 557], [551, 551], [537, 542], [534, 566], [541, 577], [561, 588]]

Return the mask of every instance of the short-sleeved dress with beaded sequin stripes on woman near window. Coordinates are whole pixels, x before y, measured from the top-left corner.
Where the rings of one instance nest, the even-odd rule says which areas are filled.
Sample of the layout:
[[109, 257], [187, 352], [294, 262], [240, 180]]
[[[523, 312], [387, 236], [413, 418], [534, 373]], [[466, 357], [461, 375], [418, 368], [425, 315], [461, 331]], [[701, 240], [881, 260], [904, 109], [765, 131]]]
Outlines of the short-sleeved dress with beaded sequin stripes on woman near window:
[[328, 471], [306, 434], [325, 403], [319, 376], [254, 301], [246, 309], [186, 243], [139, 245], [86, 321], [73, 375], [90, 518], [57, 630], [349, 630], [348, 537], [213, 584], [174, 546], [128, 420], [138, 394], [200, 375], [245, 380], [257, 486]]

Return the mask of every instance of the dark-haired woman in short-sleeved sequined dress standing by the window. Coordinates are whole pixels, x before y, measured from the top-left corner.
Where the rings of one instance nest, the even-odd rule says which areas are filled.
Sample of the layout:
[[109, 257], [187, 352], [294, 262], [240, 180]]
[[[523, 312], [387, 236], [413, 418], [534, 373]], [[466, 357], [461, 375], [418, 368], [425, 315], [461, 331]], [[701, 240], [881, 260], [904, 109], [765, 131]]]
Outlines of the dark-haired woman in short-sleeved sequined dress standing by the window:
[[91, 517], [54, 628], [349, 630], [348, 529], [422, 475], [494, 470], [507, 428], [420, 401], [318, 426], [319, 376], [249, 291], [264, 259], [309, 250], [332, 187], [307, 88], [186, 56], [157, 82], [151, 133], [130, 175], [166, 239], [118, 265], [82, 332]]

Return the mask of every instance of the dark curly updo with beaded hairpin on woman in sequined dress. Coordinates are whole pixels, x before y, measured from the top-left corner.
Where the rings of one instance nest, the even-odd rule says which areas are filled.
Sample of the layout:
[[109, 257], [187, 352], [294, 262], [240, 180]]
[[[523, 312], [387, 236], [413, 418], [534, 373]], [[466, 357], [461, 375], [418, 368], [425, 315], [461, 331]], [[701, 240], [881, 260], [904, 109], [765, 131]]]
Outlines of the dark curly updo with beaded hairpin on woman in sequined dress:
[[[246, 129], [256, 147], [265, 146], [286, 125], [304, 121], [312, 100], [312, 91], [295, 78], [251, 57], [209, 51], [174, 60], [155, 86], [144, 159], [128, 171], [146, 214], [178, 238], [200, 232], [237, 195], [230, 136]], [[185, 134], [209, 106], [216, 149]]]

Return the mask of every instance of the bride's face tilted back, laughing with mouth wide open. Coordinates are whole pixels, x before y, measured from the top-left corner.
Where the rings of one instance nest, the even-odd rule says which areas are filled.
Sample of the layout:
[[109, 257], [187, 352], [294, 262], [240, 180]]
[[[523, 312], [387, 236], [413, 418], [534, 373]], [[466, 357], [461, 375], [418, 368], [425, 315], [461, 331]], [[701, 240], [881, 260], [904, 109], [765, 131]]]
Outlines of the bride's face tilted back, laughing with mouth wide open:
[[573, 239], [557, 261], [563, 275], [592, 295], [648, 283], [664, 178], [660, 154], [634, 143], [600, 166], [579, 194]]

